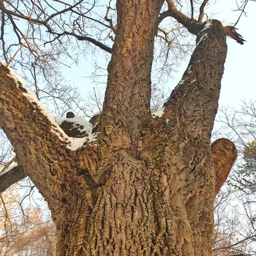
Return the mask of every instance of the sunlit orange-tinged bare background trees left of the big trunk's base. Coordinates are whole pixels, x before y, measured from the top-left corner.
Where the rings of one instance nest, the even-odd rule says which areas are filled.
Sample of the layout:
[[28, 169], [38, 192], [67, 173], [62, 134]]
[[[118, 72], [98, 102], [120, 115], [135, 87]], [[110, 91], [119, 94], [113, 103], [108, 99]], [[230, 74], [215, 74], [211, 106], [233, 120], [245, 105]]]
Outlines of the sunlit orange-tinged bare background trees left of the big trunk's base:
[[31, 202], [35, 186], [29, 183], [28, 179], [22, 180], [0, 195], [0, 253], [3, 256], [54, 255], [51, 216], [45, 214], [41, 205]]

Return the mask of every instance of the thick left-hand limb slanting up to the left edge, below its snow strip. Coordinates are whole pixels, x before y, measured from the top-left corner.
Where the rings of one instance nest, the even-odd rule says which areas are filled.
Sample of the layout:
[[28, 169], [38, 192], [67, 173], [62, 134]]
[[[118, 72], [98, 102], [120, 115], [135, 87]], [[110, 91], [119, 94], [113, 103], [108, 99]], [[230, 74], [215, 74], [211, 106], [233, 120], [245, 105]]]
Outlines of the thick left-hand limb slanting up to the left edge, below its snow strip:
[[38, 104], [29, 101], [27, 90], [1, 64], [0, 84], [0, 125], [15, 149], [19, 165], [42, 193], [55, 218], [70, 195], [67, 184], [77, 168], [74, 152], [60, 140], [57, 127]]

